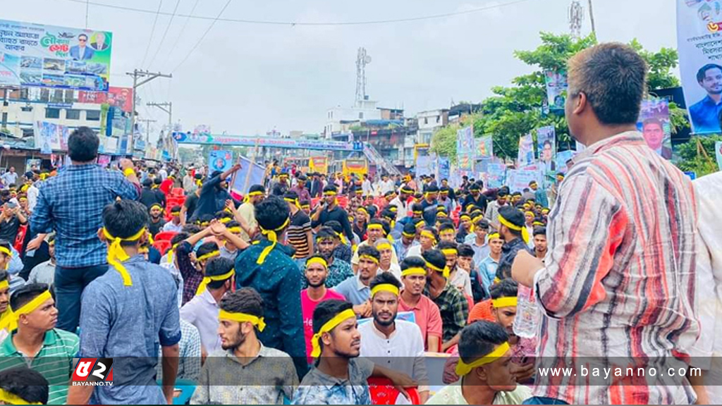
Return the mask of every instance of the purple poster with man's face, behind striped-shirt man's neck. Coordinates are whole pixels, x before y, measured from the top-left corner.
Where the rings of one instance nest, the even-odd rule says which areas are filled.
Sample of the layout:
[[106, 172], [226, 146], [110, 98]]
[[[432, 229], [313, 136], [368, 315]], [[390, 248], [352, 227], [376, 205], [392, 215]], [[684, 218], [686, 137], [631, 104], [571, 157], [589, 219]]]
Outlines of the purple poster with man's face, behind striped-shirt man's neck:
[[642, 100], [637, 129], [642, 131], [649, 147], [666, 160], [672, 158], [672, 127], [669, 123], [669, 102], [665, 99]]

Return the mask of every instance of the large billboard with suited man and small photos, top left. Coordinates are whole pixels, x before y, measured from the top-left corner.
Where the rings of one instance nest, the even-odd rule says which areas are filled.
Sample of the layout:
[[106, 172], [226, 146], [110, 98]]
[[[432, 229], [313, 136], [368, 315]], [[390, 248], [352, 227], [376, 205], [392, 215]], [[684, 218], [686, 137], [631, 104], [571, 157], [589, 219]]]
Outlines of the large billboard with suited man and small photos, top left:
[[113, 34], [0, 20], [0, 85], [108, 90]]

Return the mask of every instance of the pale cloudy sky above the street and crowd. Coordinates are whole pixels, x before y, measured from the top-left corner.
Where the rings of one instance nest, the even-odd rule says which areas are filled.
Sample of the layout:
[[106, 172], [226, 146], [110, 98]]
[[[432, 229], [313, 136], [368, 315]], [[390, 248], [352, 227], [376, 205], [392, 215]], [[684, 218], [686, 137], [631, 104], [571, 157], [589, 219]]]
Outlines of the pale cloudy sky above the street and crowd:
[[[638, 38], [653, 50], [677, 46], [674, 1], [593, 1], [601, 41]], [[111, 85], [130, 86], [124, 73], [134, 68], [173, 73], [173, 79], [145, 85], [139, 95], [143, 104], [173, 101], [173, 121], [180, 119], [184, 129], [205, 124], [228, 134], [265, 134], [274, 128], [313, 133], [322, 131], [328, 108], [353, 103], [360, 46], [373, 58], [367, 66], [370, 98], [381, 106], [403, 107], [413, 116], [448, 107], [452, 100], [482, 100], [492, 86], [528, 72], [528, 66], [513, 58], [513, 50], [536, 48], [540, 31], [567, 33], [570, 2], [90, 0], [87, 26], [113, 32]], [[586, 0], [582, 2], [588, 12]], [[191, 52], [226, 4], [222, 17], [280, 22], [361, 22], [485, 10], [370, 25], [218, 21]], [[157, 17], [153, 30], [159, 5], [169, 15]], [[192, 10], [211, 20], [175, 16], [171, 21], [176, 5], [177, 14]], [[10, 1], [2, 18], [85, 27], [86, 5], [84, 0]], [[589, 31], [587, 17], [583, 33]], [[142, 106], [139, 112], [144, 118], [167, 120], [157, 109]]]

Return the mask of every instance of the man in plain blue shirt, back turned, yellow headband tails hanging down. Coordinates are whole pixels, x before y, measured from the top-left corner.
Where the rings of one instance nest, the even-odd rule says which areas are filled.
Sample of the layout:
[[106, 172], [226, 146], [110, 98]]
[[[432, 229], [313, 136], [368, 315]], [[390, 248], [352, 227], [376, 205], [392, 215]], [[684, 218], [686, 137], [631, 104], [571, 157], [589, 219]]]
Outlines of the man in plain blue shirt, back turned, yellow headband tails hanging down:
[[[181, 322], [170, 273], [139, 254], [148, 238], [148, 214], [139, 202], [103, 209], [110, 269], [82, 295], [81, 358], [113, 358], [113, 386], [70, 386], [69, 405], [170, 405], [178, 372]], [[303, 334], [301, 334], [303, 340]], [[162, 389], [155, 382], [158, 345]]]

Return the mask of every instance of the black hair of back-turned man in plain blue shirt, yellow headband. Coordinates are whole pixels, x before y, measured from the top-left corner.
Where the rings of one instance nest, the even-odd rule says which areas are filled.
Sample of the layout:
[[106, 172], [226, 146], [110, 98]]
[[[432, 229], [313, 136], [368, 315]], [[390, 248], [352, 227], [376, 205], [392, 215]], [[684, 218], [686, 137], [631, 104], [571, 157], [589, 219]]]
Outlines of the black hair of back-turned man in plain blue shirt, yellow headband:
[[[111, 236], [128, 238], [148, 224], [144, 204], [133, 200], [118, 200], [103, 207], [103, 226]], [[123, 246], [134, 246], [138, 241], [122, 241]]]

